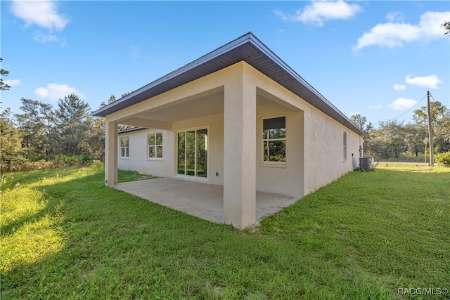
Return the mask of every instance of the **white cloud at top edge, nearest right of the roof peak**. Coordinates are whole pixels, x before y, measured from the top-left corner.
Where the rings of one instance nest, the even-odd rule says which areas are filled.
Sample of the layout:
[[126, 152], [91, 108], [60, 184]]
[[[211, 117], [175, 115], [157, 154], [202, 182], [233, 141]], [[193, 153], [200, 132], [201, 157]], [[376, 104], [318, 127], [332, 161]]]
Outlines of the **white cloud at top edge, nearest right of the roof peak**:
[[348, 4], [345, 1], [313, 1], [312, 4], [295, 11], [295, 15], [274, 11], [274, 13], [285, 21], [304, 22], [319, 27], [326, 20], [338, 20], [351, 18], [361, 11], [357, 4]]

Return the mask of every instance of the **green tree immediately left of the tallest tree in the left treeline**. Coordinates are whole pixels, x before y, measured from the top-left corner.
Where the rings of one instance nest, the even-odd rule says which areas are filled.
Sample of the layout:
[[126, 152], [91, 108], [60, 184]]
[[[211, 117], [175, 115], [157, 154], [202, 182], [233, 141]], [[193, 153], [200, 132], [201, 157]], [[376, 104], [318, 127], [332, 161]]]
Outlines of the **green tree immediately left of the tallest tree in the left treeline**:
[[53, 142], [55, 112], [50, 104], [22, 98], [22, 114], [16, 114], [23, 137], [23, 146], [28, 155], [49, 155], [55, 152]]

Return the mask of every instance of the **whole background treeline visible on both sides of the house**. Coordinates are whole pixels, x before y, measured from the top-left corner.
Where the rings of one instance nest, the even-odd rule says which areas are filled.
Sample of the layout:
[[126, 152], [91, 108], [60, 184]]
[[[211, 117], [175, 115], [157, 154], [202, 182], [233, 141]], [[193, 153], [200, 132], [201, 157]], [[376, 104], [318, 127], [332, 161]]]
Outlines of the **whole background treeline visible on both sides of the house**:
[[[42, 160], [103, 160], [105, 120], [92, 117], [89, 104], [77, 95], [65, 96], [57, 107], [25, 98], [20, 101], [20, 113], [14, 114], [9, 109], [0, 113], [2, 170], [22, 169], [30, 162]], [[115, 96], [108, 103], [113, 101]], [[105, 105], [103, 102], [100, 107]], [[439, 162], [450, 164], [450, 110], [435, 101], [431, 103], [430, 113], [437, 161], [444, 159]], [[377, 161], [423, 162], [429, 143], [426, 107], [415, 110], [408, 124], [388, 121], [375, 129], [366, 117], [353, 115], [350, 119], [370, 137], [364, 142], [366, 156]], [[439, 156], [439, 153], [444, 154]]]

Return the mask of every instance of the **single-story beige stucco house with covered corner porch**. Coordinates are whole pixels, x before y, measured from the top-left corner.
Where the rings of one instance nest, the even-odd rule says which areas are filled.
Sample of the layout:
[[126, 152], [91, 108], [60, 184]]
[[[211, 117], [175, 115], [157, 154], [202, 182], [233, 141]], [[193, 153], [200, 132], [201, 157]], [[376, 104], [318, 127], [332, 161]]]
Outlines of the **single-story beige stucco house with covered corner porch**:
[[93, 115], [105, 185], [117, 169], [223, 185], [237, 228], [255, 223], [257, 190], [300, 199], [354, 170], [365, 137], [250, 32]]

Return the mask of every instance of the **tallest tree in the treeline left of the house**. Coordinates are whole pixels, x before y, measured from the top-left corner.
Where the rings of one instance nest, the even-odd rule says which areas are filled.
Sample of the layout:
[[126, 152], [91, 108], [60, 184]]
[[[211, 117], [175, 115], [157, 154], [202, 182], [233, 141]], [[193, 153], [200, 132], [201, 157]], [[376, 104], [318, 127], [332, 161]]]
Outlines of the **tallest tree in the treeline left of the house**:
[[59, 152], [65, 155], [89, 155], [89, 150], [86, 150], [86, 140], [92, 126], [89, 104], [71, 93], [58, 101], [58, 107], [56, 138], [60, 145]]

